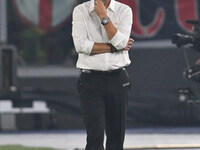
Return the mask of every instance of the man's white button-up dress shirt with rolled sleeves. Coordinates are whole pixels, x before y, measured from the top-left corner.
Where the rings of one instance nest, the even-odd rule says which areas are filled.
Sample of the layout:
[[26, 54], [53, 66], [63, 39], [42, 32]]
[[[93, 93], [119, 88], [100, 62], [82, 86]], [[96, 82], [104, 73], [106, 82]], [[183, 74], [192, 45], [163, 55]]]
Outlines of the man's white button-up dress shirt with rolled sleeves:
[[72, 36], [78, 53], [77, 68], [108, 71], [131, 63], [128, 51], [90, 55], [95, 42], [111, 43], [118, 50], [125, 48], [128, 43], [133, 19], [131, 8], [111, 0], [107, 15], [118, 30], [111, 40], [108, 39], [106, 30], [94, 11], [94, 0], [74, 8]]

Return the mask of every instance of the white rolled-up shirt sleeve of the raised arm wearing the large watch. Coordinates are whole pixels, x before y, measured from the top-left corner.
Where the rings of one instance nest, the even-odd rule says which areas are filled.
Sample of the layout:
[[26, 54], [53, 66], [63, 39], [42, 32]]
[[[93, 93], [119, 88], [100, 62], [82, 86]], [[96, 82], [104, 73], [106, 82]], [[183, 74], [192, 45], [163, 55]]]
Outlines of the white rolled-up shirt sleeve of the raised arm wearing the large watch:
[[123, 15], [121, 15], [118, 22], [117, 33], [110, 40], [110, 43], [118, 50], [122, 50], [126, 47], [132, 28], [132, 10], [130, 7], [127, 7]]

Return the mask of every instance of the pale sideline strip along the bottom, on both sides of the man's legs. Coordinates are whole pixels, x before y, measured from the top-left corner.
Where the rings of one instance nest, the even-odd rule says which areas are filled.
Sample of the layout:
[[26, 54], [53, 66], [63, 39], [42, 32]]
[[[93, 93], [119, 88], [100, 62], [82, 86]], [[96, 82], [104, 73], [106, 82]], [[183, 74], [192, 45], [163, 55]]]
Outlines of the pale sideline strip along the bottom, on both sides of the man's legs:
[[[85, 146], [84, 130], [0, 132], [0, 145], [50, 147], [59, 150], [81, 150]], [[198, 149], [200, 127], [132, 128], [126, 131], [124, 147], [142, 149]]]

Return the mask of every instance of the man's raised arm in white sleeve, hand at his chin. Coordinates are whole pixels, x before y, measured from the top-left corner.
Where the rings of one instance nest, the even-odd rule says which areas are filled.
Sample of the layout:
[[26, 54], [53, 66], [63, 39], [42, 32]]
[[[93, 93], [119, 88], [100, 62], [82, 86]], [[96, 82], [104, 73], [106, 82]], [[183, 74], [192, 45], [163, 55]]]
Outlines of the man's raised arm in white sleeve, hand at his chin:
[[[102, 20], [107, 17], [107, 10], [101, 0], [96, 0], [95, 2], [95, 12], [97, 16]], [[130, 40], [130, 32], [132, 27], [132, 10], [130, 7], [122, 10], [120, 12], [120, 20], [118, 22], [118, 28], [116, 28], [112, 21], [109, 21], [107, 25], [104, 25], [104, 28], [107, 32], [110, 43], [118, 50], [122, 50], [128, 47], [128, 43], [134, 40]]]

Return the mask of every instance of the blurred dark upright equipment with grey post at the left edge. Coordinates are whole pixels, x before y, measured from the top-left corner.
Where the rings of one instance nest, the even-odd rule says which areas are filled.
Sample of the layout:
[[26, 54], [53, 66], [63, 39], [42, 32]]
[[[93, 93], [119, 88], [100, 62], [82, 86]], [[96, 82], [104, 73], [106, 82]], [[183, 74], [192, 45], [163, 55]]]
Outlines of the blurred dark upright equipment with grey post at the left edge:
[[[17, 90], [16, 48], [7, 45], [7, 1], [0, 1], [0, 99]], [[10, 93], [11, 92], [11, 93]]]

